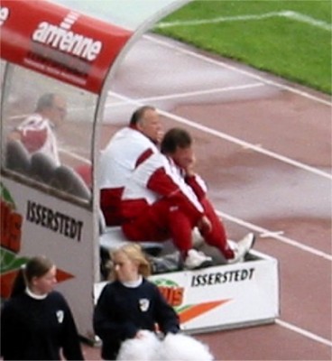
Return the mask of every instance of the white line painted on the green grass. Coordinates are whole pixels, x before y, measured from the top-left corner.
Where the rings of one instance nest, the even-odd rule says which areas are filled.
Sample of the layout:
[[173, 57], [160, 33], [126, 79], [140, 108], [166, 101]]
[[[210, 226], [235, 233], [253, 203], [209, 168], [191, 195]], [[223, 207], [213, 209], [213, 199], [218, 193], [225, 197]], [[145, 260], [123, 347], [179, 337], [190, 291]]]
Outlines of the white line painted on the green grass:
[[271, 12], [265, 14], [247, 14], [238, 16], [219, 16], [212, 19], [200, 19], [200, 20], [188, 20], [188, 21], [177, 21], [177, 22], [161, 22], [155, 25], [156, 28], [169, 28], [173, 26], [197, 26], [206, 25], [209, 23], [233, 23], [243, 22], [251, 20], [263, 20], [271, 17], [285, 17], [291, 20], [295, 20], [300, 23], [308, 23], [311, 26], [315, 26], [319, 29], [331, 32], [331, 24], [326, 23], [322, 20], [317, 20], [308, 15], [300, 14], [291, 10], [284, 10], [280, 12]]

